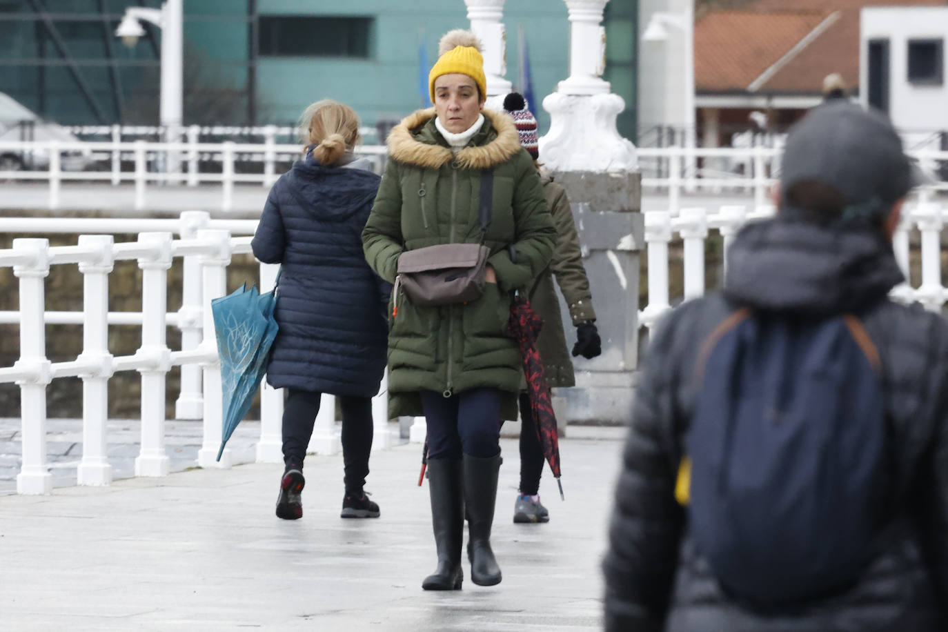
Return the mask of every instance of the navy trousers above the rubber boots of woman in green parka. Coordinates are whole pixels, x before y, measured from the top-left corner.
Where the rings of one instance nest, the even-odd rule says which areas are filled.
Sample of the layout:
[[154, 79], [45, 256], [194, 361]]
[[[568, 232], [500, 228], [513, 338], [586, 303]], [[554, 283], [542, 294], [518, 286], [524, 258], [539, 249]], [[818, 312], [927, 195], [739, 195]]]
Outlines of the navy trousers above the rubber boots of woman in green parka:
[[501, 453], [501, 391], [471, 388], [445, 397], [421, 391], [428, 423], [428, 459], [489, 459]]

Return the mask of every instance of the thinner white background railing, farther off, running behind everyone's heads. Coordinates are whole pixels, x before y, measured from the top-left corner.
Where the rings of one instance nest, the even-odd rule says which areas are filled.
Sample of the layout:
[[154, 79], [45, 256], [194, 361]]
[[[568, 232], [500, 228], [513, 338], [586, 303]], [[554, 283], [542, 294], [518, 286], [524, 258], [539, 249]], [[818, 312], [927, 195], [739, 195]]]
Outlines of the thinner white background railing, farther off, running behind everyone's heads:
[[[39, 156], [42, 160], [32, 162], [44, 168], [0, 172], [0, 180], [46, 183], [48, 208], [62, 206], [64, 182], [133, 184], [134, 207], [138, 210], [146, 207], [148, 191], [155, 186], [211, 185], [220, 187], [221, 209], [230, 210], [236, 185], [268, 188], [279, 177], [278, 167], [285, 169], [290, 161], [300, 157], [299, 145], [277, 144], [274, 137], [269, 135], [262, 143], [197, 142], [196, 133], [178, 143], [141, 139], [133, 142], [2, 141], [0, 155]], [[748, 194], [753, 195], [755, 207], [765, 205], [768, 191], [780, 174], [781, 152], [779, 142], [747, 148], [646, 147], [637, 150], [643, 189], [666, 192], [668, 208], [675, 210], [680, 208], [684, 194], [694, 192]], [[369, 157], [374, 171], [384, 169], [388, 153], [385, 147], [363, 145], [356, 148], [356, 153]], [[916, 149], [909, 154], [936, 176], [948, 164], [948, 151]], [[64, 161], [82, 155], [91, 156], [90, 160], [98, 156], [100, 160], [92, 167], [99, 167], [100, 171], [64, 169]], [[242, 168], [238, 170], [242, 161]], [[209, 163], [212, 171], [202, 171], [208, 169]], [[180, 169], [167, 171], [170, 165], [180, 165]], [[948, 191], [948, 182], [938, 182], [928, 189]]]

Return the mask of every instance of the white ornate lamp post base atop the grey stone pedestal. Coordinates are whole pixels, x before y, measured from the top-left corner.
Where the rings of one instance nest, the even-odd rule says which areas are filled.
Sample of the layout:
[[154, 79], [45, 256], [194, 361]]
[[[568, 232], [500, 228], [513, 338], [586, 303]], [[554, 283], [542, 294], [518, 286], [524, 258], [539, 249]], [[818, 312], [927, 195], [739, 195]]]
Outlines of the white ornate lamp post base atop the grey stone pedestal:
[[570, 17], [570, 76], [543, 99], [550, 131], [539, 153], [551, 172], [632, 172], [635, 146], [619, 135], [615, 119], [625, 107], [611, 94], [605, 71], [606, 33], [601, 26], [609, 0], [564, 0]]

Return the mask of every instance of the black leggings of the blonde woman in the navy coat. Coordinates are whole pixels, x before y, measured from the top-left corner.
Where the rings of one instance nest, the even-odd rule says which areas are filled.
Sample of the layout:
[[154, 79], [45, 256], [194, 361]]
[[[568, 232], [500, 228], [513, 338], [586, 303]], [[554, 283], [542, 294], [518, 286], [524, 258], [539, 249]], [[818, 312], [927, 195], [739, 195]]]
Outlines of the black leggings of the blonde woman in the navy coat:
[[[302, 467], [306, 446], [313, 436], [321, 393], [289, 388], [283, 405], [283, 462], [286, 467]], [[372, 450], [372, 398], [339, 396], [342, 408], [342, 462], [346, 494], [362, 496], [369, 476]]]

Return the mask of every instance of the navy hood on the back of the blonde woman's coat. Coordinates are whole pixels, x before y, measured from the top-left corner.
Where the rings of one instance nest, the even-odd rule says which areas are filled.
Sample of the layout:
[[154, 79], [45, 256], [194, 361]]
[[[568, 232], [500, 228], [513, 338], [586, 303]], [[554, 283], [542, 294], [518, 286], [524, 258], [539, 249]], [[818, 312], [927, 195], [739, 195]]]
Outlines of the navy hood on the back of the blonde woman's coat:
[[373, 202], [381, 179], [356, 165], [349, 167], [323, 167], [313, 157], [298, 160], [285, 176], [287, 190], [319, 219], [345, 220]]

